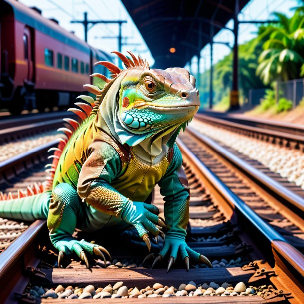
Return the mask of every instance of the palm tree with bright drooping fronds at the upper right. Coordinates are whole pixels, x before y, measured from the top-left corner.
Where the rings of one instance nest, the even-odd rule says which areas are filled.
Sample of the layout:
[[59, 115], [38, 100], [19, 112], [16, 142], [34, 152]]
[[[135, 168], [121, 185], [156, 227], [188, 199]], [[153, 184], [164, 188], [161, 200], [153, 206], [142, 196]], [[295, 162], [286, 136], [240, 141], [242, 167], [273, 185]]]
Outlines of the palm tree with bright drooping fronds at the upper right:
[[304, 64], [303, 9], [297, 9], [291, 18], [281, 13], [274, 15], [278, 24], [264, 27], [264, 32], [260, 33], [269, 37], [263, 44], [264, 51], [259, 56], [256, 70], [265, 85], [278, 80], [299, 78], [301, 66]]

